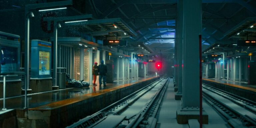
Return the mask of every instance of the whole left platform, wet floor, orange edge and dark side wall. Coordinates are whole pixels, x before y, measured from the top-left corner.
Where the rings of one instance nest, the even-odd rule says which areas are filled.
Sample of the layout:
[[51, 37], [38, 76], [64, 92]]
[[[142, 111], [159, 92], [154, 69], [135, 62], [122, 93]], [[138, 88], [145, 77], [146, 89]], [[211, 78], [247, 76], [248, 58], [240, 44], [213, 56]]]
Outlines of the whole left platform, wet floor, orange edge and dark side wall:
[[[28, 109], [22, 109], [24, 106], [23, 97], [8, 98], [6, 99], [6, 108], [13, 109], [13, 111], [9, 111], [10, 114], [5, 113], [5, 117], [8, 116], [13, 119], [13, 116], [15, 116], [19, 127], [34, 127], [34, 124], [36, 124], [35, 127], [39, 128], [65, 127], [78, 121], [78, 119], [105, 108], [159, 78], [146, 77], [118, 80], [114, 83], [107, 83], [105, 87], [99, 87], [98, 85], [89, 86], [89, 88], [68, 88], [29, 94]], [[6, 120], [6, 118], [3, 119]]]

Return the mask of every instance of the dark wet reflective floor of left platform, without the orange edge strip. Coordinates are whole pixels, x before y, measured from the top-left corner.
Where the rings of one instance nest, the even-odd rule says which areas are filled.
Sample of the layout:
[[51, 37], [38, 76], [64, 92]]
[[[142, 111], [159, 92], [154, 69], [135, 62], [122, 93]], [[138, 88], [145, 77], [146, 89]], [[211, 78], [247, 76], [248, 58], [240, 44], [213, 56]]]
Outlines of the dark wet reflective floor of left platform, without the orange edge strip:
[[[147, 77], [149, 78], [149, 77]], [[28, 108], [33, 108], [45, 104], [49, 104], [55, 101], [60, 101], [64, 99], [74, 98], [83, 96], [84, 94], [88, 93], [96, 93], [99, 90], [104, 90], [108, 88], [113, 88], [116, 86], [120, 86], [123, 84], [134, 83], [146, 78], [135, 78], [131, 80], [118, 80], [114, 83], [107, 83], [107, 86], [89, 86], [87, 88], [68, 88], [62, 90], [56, 90], [51, 92], [39, 93], [35, 95], [27, 96], [27, 106]], [[15, 97], [6, 99], [6, 108], [7, 109], [14, 109], [14, 108], [23, 108], [24, 107], [24, 96], [23, 97]], [[0, 108], [3, 106], [3, 100], [0, 100]]]

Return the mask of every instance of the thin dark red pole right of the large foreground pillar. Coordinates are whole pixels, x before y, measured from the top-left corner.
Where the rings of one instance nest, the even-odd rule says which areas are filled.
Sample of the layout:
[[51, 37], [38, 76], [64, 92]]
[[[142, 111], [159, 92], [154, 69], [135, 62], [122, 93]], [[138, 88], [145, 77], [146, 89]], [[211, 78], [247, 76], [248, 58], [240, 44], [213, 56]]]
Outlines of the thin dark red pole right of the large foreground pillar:
[[203, 128], [203, 106], [202, 106], [202, 35], [199, 35], [199, 73], [200, 73], [200, 80], [199, 80], [199, 97], [200, 97], [200, 128]]

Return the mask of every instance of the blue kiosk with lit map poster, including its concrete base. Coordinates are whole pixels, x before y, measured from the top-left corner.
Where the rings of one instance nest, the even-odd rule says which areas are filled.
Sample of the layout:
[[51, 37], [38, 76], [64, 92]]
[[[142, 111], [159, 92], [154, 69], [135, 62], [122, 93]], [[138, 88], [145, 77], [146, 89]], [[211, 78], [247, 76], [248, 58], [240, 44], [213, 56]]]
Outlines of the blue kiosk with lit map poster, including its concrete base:
[[52, 90], [51, 43], [31, 40], [31, 78], [32, 92]]

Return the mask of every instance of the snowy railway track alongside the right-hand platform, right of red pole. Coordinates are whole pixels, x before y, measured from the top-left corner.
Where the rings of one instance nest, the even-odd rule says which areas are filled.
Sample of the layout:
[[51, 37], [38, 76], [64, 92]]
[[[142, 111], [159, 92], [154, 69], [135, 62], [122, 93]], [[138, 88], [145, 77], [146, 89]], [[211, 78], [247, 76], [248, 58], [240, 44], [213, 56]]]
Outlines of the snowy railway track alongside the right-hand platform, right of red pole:
[[234, 128], [256, 128], [256, 103], [203, 84], [204, 99]]

